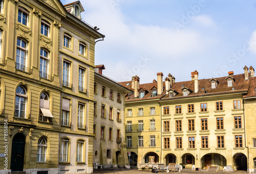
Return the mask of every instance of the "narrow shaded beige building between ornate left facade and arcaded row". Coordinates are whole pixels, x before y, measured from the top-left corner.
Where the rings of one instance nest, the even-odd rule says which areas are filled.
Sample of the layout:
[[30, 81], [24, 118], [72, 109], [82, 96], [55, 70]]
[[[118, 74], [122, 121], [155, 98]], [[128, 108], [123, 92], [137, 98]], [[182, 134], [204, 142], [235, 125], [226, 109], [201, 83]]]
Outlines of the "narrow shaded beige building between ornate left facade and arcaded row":
[[94, 74], [94, 166], [130, 168], [124, 132], [124, 98], [132, 92], [104, 76], [104, 65], [97, 65]]

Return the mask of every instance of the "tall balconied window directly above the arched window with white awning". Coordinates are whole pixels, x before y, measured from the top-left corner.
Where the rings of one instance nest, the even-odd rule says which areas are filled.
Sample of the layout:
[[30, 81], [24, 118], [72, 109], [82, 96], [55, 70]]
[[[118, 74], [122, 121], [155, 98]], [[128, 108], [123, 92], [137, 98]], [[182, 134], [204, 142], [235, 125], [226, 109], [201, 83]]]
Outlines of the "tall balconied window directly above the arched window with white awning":
[[40, 71], [39, 76], [41, 78], [48, 79], [48, 62], [49, 53], [45, 49], [40, 49]]

